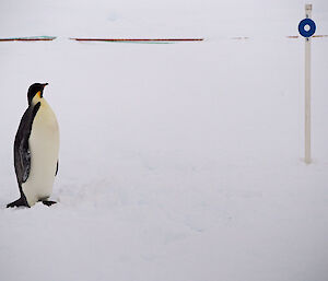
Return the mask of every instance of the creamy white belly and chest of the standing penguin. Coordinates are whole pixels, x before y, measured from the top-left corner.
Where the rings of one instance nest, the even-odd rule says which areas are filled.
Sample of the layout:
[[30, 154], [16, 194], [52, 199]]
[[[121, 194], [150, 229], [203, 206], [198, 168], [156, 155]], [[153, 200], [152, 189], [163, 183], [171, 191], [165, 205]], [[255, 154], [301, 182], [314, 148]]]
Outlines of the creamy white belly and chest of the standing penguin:
[[22, 185], [28, 206], [50, 197], [59, 152], [59, 128], [56, 116], [43, 98], [28, 139], [31, 171]]

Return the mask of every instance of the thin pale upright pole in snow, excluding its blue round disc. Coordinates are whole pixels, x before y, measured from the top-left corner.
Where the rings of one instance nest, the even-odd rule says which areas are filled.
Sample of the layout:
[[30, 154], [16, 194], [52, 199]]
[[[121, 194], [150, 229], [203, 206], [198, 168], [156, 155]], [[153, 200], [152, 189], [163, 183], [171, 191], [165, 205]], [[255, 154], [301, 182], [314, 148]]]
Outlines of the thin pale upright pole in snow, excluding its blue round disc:
[[[305, 4], [305, 16], [311, 19], [312, 4]], [[305, 38], [305, 163], [311, 159], [311, 37]]]

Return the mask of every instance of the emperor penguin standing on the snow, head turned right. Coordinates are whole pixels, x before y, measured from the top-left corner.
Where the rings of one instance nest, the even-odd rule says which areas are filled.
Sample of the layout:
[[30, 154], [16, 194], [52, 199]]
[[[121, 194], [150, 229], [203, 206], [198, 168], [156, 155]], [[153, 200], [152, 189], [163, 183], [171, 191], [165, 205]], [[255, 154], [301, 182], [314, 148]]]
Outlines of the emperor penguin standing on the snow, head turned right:
[[48, 83], [35, 83], [27, 92], [25, 110], [14, 141], [14, 166], [21, 198], [7, 206], [32, 207], [42, 201], [46, 206], [58, 173], [59, 127], [51, 107], [44, 98]]

